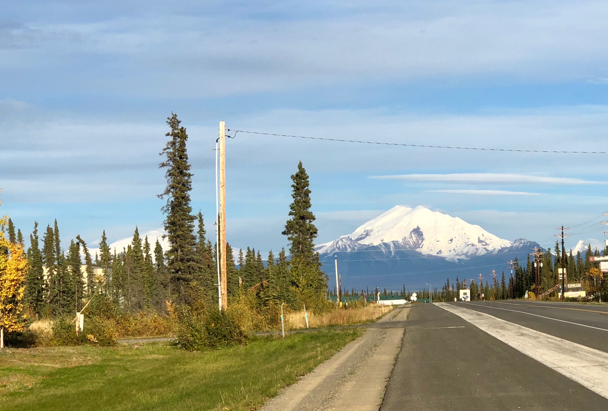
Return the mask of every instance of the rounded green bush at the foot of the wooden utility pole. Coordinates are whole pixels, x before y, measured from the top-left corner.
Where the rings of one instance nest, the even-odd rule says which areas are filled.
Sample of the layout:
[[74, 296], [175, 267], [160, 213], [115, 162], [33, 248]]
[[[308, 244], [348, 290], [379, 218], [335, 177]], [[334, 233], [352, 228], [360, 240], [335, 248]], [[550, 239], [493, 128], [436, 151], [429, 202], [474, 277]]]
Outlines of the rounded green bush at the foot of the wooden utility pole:
[[218, 308], [207, 311], [178, 309], [176, 344], [188, 351], [244, 345], [247, 334], [233, 317]]

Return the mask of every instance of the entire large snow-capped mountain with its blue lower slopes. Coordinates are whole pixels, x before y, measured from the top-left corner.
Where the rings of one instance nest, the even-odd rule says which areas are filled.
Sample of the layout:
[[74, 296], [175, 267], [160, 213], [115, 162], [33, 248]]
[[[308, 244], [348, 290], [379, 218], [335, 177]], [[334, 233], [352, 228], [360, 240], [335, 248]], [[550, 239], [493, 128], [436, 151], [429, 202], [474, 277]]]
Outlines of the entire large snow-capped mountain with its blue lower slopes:
[[[362, 224], [349, 235], [315, 247], [325, 271], [333, 278], [337, 257], [344, 288], [419, 289], [432, 283], [441, 288], [446, 278], [490, 278], [492, 269], [506, 270], [508, 261], [525, 264], [539, 244], [518, 238], [504, 240], [463, 219], [426, 207], [395, 206]], [[500, 277], [499, 277], [500, 278]], [[333, 288], [333, 282], [330, 281]]]

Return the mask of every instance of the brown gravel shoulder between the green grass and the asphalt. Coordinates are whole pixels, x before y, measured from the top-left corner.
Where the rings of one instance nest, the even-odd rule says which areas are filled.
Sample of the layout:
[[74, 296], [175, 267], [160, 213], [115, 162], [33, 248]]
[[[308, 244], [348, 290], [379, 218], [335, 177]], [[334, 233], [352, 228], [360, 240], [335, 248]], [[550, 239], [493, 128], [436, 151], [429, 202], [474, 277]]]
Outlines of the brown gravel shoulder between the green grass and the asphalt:
[[[263, 411], [378, 410], [401, 347], [410, 308], [382, 317], [328, 361], [287, 387]], [[382, 327], [385, 325], [385, 327]]]

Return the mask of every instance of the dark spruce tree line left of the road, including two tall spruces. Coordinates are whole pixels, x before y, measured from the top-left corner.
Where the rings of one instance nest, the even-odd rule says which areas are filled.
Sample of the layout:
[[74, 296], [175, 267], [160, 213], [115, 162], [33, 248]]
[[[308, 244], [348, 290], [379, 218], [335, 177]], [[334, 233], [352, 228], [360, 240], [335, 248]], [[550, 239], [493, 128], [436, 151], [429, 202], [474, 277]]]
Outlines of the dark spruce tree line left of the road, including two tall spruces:
[[[165, 169], [167, 187], [159, 195], [166, 199], [164, 229], [168, 250], [156, 240], [151, 243], [135, 227], [131, 244], [111, 249], [105, 230], [94, 256], [78, 235], [69, 244], [61, 242], [57, 220], [39, 232], [34, 223], [27, 249], [29, 269], [24, 302], [31, 316], [53, 317], [73, 314], [96, 295], [103, 296], [128, 313], [148, 310], [164, 313], [167, 302], [192, 305], [217, 304], [218, 247], [207, 238], [202, 213], [192, 212], [192, 176], [186, 143], [188, 135], [176, 114], [168, 117], [168, 142], [161, 151], [159, 167]], [[226, 247], [227, 290], [230, 299], [249, 294], [260, 306], [302, 303], [314, 309], [323, 305], [327, 276], [314, 252], [317, 229], [311, 212], [309, 176], [300, 162], [292, 179], [292, 203], [283, 235], [289, 243], [275, 256], [264, 260], [253, 247]], [[10, 243], [24, 246], [20, 229], [8, 220]], [[236, 257], [236, 259], [235, 259]]]

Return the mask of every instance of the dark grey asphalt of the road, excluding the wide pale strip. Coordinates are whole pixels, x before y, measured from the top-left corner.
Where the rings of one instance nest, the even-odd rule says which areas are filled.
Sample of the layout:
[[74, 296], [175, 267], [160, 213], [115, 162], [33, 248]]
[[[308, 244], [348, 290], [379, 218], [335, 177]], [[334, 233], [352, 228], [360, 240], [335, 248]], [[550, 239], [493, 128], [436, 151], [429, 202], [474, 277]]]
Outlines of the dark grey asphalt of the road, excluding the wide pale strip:
[[[608, 330], [606, 308], [512, 304], [454, 306], [607, 351], [608, 331], [597, 329]], [[593, 373], [593, 367], [588, 372]], [[608, 410], [608, 399], [440, 306], [415, 304], [381, 407], [404, 409]]]

